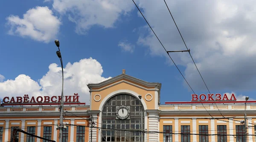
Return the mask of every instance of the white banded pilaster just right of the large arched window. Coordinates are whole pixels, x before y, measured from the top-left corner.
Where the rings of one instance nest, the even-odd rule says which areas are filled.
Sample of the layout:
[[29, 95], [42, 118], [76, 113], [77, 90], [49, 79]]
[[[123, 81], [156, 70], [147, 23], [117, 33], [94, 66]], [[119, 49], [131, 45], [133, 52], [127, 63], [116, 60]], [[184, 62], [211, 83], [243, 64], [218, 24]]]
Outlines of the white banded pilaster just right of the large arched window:
[[[159, 125], [159, 110], [148, 110], [148, 142], [158, 142], [158, 133], [151, 133], [158, 131]], [[161, 127], [161, 126], [160, 126]]]

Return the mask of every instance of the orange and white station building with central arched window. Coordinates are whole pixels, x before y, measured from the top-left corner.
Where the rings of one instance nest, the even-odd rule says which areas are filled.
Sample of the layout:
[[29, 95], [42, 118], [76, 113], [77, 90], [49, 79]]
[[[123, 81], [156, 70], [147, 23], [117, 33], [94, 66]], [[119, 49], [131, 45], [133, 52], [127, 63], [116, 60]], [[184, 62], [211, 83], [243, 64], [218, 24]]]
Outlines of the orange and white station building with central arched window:
[[[245, 142], [246, 130], [247, 142], [256, 142], [256, 101], [247, 101], [247, 125], [243, 125], [240, 121], [244, 120], [245, 101], [225, 96], [222, 101], [212, 101], [211, 95], [207, 101], [204, 99], [207, 95], [194, 94], [191, 102], [160, 104], [160, 83], [131, 77], [125, 70], [121, 75], [87, 87], [90, 105], [73, 102], [64, 106], [63, 142]], [[71, 99], [78, 101], [74, 96], [66, 98]], [[30, 99], [26, 105], [20, 101], [17, 106], [18, 99], [3, 101], [0, 142], [10, 142], [13, 128], [58, 142], [58, 103], [28, 106]], [[11, 101], [16, 105], [12, 106]], [[90, 127], [91, 118], [94, 127]], [[15, 142], [42, 141], [24, 133], [15, 136]]]

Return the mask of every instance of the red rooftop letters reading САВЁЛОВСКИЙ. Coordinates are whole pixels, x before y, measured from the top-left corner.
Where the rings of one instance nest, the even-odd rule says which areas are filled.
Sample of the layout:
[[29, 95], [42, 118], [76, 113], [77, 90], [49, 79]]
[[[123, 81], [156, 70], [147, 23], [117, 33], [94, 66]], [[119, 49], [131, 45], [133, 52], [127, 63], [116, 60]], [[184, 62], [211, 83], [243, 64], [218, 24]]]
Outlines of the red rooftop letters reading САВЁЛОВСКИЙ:
[[[78, 93], [74, 93], [73, 96], [64, 96], [64, 102], [79, 102], [79, 96]], [[58, 99], [57, 99], [58, 98]], [[61, 96], [38, 96], [35, 98], [32, 96], [31, 99], [29, 99], [29, 95], [24, 95], [23, 97], [4, 97], [3, 103], [48, 103], [48, 102], [61, 102]]]

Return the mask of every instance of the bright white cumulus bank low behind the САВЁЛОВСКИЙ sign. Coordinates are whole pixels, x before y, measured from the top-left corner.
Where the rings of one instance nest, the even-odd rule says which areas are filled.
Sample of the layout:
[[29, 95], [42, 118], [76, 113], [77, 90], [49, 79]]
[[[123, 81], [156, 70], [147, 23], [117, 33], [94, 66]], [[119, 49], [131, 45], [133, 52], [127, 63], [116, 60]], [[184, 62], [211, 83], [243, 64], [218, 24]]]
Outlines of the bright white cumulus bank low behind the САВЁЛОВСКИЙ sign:
[[[102, 66], [95, 59], [81, 59], [64, 68], [64, 96], [79, 93], [79, 101], [89, 104], [90, 93], [87, 84], [99, 83], [109, 78], [102, 77]], [[38, 82], [27, 75], [19, 75], [15, 80], [0, 82], [0, 98], [5, 96], [61, 96], [61, 67], [50, 64], [49, 71]]]

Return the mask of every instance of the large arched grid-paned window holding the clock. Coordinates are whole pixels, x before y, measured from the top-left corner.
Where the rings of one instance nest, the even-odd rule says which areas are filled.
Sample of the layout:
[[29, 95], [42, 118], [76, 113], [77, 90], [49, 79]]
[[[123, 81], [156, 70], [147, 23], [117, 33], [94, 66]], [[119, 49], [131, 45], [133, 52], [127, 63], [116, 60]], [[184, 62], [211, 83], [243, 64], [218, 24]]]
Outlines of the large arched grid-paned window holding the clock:
[[135, 130], [142, 130], [141, 116], [145, 124], [144, 108], [139, 99], [127, 94], [113, 96], [102, 110], [102, 142], [140, 142], [141, 133]]

